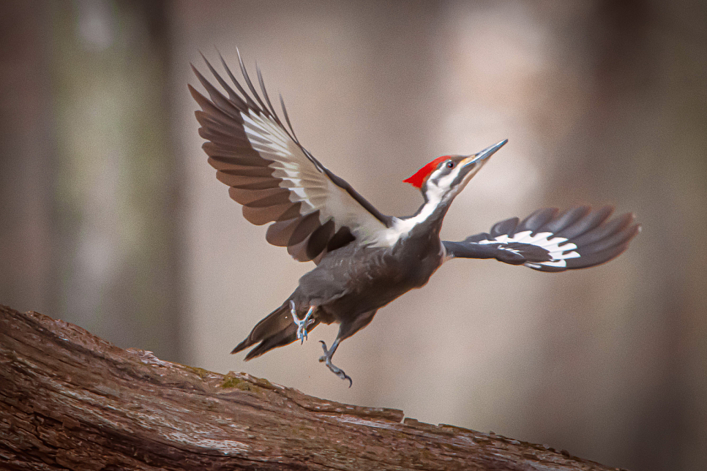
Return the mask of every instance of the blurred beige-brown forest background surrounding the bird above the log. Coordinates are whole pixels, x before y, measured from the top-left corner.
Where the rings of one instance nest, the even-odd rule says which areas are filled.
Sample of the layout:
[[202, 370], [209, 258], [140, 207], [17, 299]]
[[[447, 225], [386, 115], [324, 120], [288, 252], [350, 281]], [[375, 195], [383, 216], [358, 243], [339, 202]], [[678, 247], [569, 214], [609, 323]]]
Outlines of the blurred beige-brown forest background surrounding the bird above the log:
[[[5, 0], [0, 303], [318, 397], [703, 470], [706, 24], [697, 0]], [[385, 214], [417, 209], [401, 180], [432, 158], [508, 138], [445, 238], [611, 203], [643, 233], [579, 272], [445, 264], [341, 345], [351, 389], [317, 362], [335, 326], [245, 364], [229, 351], [313, 265], [265, 242], [200, 149], [189, 63], [236, 67], [237, 46]]]

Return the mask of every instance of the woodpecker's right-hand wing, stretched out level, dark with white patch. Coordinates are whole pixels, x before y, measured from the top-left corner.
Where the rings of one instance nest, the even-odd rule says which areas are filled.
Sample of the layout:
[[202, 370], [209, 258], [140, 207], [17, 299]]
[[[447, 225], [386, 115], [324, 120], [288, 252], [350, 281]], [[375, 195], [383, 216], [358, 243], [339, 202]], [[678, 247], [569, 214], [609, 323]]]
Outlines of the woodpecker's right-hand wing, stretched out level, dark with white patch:
[[561, 214], [556, 208], [539, 209], [520, 222], [506, 219], [489, 233], [443, 244], [447, 257], [496, 258], [542, 272], [593, 267], [618, 257], [641, 231], [631, 213], [609, 221], [613, 211], [610, 206], [596, 211], [575, 207]]

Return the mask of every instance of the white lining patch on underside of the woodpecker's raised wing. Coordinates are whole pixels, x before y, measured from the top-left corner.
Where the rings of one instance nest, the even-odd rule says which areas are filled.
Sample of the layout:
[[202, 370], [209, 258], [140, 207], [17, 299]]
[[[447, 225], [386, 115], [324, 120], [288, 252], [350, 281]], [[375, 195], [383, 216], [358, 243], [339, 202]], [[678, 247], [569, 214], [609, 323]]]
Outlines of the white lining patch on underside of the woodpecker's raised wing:
[[301, 202], [300, 214], [320, 211], [320, 223], [334, 220], [334, 231], [347, 226], [361, 243], [370, 243], [385, 224], [358, 204], [356, 199], [320, 171], [290, 136], [269, 117], [249, 110], [240, 112], [250, 145], [263, 158], [273, 161], [273, 177], [290, 190], [290, 201]]

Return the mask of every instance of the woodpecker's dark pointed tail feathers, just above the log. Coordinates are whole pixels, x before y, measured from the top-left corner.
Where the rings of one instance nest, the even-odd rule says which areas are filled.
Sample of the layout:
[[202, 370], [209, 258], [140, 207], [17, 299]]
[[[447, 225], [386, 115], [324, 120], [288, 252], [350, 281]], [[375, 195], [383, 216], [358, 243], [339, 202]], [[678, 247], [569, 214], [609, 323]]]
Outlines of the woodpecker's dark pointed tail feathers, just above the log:
[[[319, 321], [316, 320], [314, 324], [310, 325], [308, 330], [311, 332], [312, 329], [317, 327], [318, 323]], [[297, 325], [292, 319], [290, 300], [288, 299], [282, 303], [282, 306], [272, 311], [258, 322], [255, 327], [253, 327], [253, 330], [250, 331], [248, 337], [246, 337], [243, 342], [240, 342], [231, 353], [238, 353], [260, 342], [255, 349], [249, 351], [245, 356], [246, 360], [250, 360], [276, 347], [291, 344], [296, 339]]]

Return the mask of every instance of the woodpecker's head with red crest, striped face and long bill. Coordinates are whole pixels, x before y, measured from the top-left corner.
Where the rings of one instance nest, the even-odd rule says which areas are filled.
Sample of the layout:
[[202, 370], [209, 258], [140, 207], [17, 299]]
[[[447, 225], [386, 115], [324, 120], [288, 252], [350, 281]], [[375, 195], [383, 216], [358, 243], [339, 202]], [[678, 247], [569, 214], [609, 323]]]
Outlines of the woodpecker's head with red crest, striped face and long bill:
[[448, 202], [454, 199], [469, 180], [501, 149], [508, 139], [470, 156], [442, 156], [431, 161], [407, 180], [417, 187], [428, 202]]

